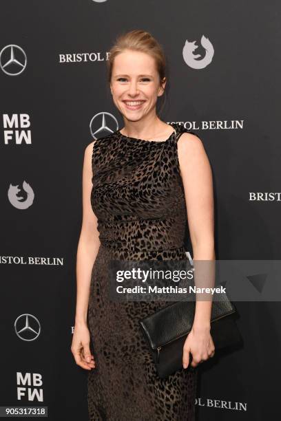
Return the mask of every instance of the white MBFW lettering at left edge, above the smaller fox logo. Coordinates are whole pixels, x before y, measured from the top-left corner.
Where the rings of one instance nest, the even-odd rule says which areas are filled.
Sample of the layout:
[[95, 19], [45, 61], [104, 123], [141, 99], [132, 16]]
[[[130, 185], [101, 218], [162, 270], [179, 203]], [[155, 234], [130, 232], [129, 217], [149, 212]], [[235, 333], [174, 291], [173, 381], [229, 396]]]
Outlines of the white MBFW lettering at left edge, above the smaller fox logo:
[[3, 114], [4, 142], [31, 144], [30, 116], [28, 114]]

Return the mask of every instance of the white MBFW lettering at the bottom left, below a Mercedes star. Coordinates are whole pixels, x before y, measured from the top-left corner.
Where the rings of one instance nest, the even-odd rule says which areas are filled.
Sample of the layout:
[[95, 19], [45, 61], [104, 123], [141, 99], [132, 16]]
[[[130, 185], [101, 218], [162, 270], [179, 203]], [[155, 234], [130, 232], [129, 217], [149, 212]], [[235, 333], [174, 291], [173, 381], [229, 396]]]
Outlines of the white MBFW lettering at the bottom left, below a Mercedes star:
[[43, 381], [39, 373], [21, 373], [17, 371], [17, 400], [43, 402]]

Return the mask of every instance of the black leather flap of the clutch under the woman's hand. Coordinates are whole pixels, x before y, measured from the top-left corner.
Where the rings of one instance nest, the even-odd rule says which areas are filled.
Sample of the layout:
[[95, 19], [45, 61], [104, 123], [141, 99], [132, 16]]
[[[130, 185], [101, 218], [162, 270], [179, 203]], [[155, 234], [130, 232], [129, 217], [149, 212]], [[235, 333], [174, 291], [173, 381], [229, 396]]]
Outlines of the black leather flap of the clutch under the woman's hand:
[[[227, 296], [220, 299], [212, 302], [211, 322], [236, 311]], [[188, 334], [194, 321], [195, 305], [195, 301], [177, 301], [139, 321], [149, 346], [156, 349]]]

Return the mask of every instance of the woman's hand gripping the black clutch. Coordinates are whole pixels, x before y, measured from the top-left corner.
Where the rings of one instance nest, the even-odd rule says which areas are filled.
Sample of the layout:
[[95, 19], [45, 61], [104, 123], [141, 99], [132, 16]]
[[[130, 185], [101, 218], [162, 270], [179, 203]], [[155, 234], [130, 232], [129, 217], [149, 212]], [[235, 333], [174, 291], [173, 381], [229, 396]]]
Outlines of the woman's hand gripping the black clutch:
[[192, 355], [191, 367], [213, 357], [215, 345], [210, 334], [210, 326], [192, 327], [183, 346], [183, 368], [189, 365], [189, 353]]

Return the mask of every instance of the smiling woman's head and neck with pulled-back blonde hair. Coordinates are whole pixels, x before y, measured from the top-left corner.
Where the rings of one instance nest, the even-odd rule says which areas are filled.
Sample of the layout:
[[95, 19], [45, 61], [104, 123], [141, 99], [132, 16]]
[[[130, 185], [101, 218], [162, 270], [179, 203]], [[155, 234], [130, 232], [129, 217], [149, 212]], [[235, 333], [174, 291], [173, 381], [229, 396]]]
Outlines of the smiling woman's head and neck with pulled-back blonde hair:
[[[156, 117], [156, 102], [165, 94], [165, 56], [147, 32], [136, 31], [118, 39], [112, 47], [109, 82], [114, 104], [124, 118], [126, 136], [154, 138], [167, 133], [167, 125]], [[150, 46], [150, 48], [149, 48]], [[145, 118], [145, 120], [144, 120]], [[144, 123], [146, 124], [144, 125]], [[150, 126], [150, 128], [149, 128]]]

